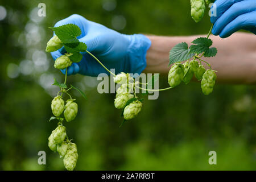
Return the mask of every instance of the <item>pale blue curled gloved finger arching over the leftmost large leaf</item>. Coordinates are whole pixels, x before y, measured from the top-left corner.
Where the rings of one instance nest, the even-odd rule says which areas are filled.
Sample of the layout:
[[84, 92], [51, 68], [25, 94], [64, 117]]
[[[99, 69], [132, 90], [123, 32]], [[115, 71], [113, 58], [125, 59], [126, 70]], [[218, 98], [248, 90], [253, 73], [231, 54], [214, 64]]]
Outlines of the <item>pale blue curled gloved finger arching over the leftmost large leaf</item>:
[[[54, 27], [59, 27], [59, 26], [62, 26], [63, 24], [69, 24], [69, 23], [76, 24], [81, 29], [82, 33], [77, 37], [78, 39], [85, 36], [86, 34], [85, 27], [87, 27], [86, 24], [88, 24], [88, 20], [81, 15], [73, 14], [71, 16], [68, 16], [68, 18], [65, 18], [57, 22]], [[53, 35], [55, 35], [55, 32], [53, 32]]]

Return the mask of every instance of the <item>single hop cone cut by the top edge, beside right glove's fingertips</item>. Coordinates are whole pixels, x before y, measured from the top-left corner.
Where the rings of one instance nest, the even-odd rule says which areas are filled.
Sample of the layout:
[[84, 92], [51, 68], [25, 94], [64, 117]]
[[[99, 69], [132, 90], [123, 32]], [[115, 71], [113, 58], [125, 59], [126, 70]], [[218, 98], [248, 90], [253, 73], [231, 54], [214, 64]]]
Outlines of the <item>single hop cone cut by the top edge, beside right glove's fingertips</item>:
[[205, 2], [204, 0], [191, 0], [191, 16], [195, 22], [200, 22], [204, 17]]

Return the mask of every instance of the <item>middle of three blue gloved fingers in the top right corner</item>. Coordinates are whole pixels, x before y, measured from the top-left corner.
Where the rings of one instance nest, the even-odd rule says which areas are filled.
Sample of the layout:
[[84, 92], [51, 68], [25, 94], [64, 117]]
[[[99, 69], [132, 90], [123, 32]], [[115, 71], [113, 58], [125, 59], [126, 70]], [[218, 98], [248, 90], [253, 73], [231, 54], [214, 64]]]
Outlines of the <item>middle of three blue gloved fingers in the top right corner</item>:
[[214, 23], [212, 33], [213, 35], [218, 35], [223, 30], [223, 28], [232, 20], [237, 18], [237, 16], [249, 13], [256, 10], [255, 0], [246, 0], [242, 2], [234, 3], [224, 14], [217, 19]]

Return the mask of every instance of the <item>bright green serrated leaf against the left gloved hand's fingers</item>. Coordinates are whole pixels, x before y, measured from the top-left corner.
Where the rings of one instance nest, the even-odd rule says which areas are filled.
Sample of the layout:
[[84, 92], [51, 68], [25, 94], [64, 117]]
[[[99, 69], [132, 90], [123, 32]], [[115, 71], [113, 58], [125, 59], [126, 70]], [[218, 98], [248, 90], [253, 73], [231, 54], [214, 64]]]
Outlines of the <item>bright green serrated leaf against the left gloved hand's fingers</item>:
[[78, 45], [79, 40], [76, 37], [81, 35], [81, 30], [76, 24], [64, 24], [63, 26], [50, 28], [64, 44], [69, 44], [69, 46], [72, 44]]

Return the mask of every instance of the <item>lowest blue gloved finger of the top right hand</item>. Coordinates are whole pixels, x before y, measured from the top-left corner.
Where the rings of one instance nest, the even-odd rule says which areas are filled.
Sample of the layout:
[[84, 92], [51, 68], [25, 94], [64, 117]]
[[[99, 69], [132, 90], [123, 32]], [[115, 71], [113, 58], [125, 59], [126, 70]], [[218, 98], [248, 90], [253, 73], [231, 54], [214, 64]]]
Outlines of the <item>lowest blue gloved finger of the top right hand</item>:
[[230, 22], [220, 33], [221, 38], [227, 38], [234, 32], [241, 29], [248, 29], [250, 27], [256, 27], [256, 11], [242, 14]]

